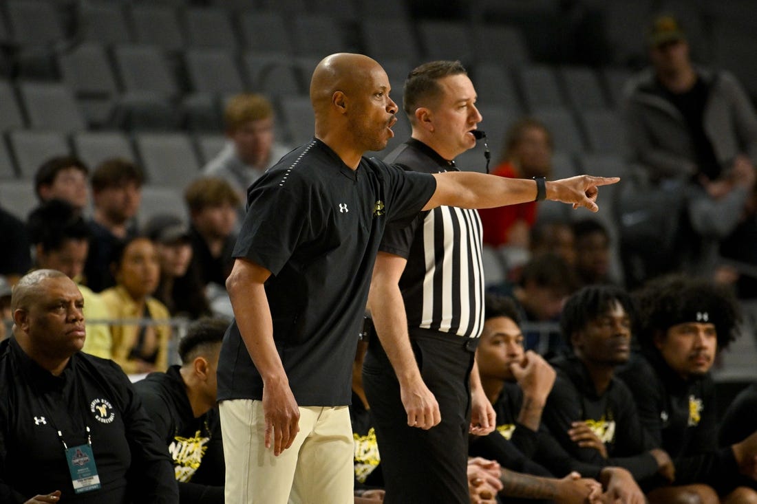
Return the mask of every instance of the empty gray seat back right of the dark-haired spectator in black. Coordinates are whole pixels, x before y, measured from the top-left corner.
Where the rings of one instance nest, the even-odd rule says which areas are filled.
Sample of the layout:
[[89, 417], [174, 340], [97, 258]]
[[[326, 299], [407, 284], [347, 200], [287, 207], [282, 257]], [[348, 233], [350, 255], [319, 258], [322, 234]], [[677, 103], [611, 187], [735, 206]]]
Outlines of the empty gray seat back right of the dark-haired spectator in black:
[[151, 185], [181, 189], [200, 171], [192, 141], [183, 133], [137, 133], [134, 142]]

